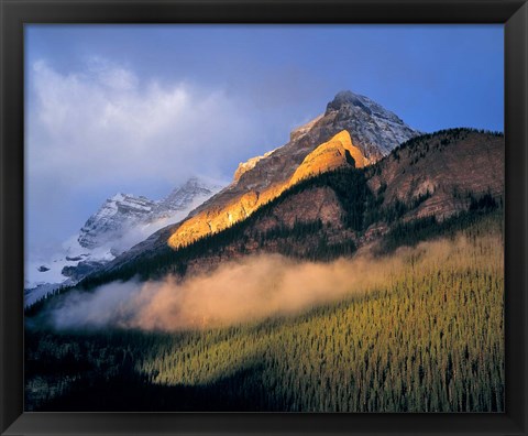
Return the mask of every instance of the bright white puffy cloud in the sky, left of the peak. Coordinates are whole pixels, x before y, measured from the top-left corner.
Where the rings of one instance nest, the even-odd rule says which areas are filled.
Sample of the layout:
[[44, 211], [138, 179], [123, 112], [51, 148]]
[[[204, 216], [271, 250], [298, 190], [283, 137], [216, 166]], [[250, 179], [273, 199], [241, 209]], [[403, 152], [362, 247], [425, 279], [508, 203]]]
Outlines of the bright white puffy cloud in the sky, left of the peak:
[[38, 62], [30, 83], [31, 175], [79, 186], [221, 172], [254, 129], [222, 90], [145, 83], [102, 59], [68, 75]]

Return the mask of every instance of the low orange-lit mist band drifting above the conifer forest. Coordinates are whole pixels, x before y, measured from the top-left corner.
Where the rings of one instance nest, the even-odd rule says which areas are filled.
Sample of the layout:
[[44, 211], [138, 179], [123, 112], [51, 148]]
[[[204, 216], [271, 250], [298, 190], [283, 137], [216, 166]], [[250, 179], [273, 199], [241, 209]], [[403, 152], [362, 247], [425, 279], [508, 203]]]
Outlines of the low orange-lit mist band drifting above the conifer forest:
[[57, 328], [124, 327], [184, 330], [298, 314], [387, 283], [402, 260], [358, 257], [331, 263], [299, 262], [278, 254], [250, 257], [211, 274], [178, 283], [114, 282], [76, 293], [52, 316]]

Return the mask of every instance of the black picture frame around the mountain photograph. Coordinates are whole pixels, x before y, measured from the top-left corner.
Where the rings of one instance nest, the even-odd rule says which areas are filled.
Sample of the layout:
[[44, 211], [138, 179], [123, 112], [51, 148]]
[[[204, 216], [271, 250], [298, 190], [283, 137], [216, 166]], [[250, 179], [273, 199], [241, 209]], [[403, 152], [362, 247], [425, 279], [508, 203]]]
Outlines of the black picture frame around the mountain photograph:
[[[528, 433], [528, 4], [519, 0], [0, 0], [2, 435]], [[506, 412], [502, 414], [24, 413], [23, 28], [26, 23], [503, 23]]]

